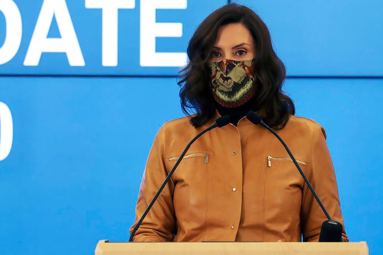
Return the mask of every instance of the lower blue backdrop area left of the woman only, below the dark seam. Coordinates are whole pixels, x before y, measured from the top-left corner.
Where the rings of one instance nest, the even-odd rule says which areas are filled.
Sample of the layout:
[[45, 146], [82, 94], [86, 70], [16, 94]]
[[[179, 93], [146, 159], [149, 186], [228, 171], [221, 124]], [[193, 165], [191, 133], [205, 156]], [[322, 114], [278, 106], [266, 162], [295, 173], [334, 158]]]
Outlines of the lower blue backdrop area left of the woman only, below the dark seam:
[[154, 136], [182, 116], [169, 78], [0, 78], [13, 146], [0, 161], [0, 254], [94, 254], [128, 240]]

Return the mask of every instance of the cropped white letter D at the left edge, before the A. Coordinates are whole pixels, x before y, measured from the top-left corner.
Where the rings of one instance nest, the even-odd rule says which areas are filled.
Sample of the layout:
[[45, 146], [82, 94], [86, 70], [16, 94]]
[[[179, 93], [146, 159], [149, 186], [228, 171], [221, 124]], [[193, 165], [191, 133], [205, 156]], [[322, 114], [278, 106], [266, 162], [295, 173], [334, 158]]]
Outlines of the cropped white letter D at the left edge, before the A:
[[23, 24], [19, 8], [12, 0], [1, 0], [0, 11], [5, 17], [5, 41], [0, 47], [0, 65], [13, 59], [19, 50]]

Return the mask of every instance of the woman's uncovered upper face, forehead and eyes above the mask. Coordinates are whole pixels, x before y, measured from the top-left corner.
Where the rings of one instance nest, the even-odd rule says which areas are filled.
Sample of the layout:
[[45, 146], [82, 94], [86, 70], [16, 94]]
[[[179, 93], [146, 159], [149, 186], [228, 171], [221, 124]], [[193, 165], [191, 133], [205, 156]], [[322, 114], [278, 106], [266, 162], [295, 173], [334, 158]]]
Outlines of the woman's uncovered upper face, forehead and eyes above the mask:
[[223, 25], [218, 29], [209, 61], [254, 59], [254, 46], [254, 39], [246, 26], [241, 23]]

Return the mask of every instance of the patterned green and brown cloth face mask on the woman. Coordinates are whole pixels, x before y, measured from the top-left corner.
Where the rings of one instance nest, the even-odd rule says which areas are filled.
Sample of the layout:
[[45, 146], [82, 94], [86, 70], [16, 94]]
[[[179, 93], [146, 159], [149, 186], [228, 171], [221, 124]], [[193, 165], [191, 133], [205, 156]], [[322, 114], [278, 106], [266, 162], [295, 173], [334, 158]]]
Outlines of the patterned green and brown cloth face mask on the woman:
[[214, 99], [222, 106], [241, 106], [255, 94], [254, 59], [208, 62], [210, 88]]

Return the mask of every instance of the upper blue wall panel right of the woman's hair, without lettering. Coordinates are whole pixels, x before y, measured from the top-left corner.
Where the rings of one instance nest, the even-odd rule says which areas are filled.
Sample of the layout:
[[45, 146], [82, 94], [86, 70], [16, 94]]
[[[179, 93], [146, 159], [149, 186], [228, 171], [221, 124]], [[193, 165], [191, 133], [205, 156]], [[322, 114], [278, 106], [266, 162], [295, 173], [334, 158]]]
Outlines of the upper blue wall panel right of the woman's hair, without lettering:
[[270, 29], [288, 75], [383, 76], [383, 1], [238, 0]]

